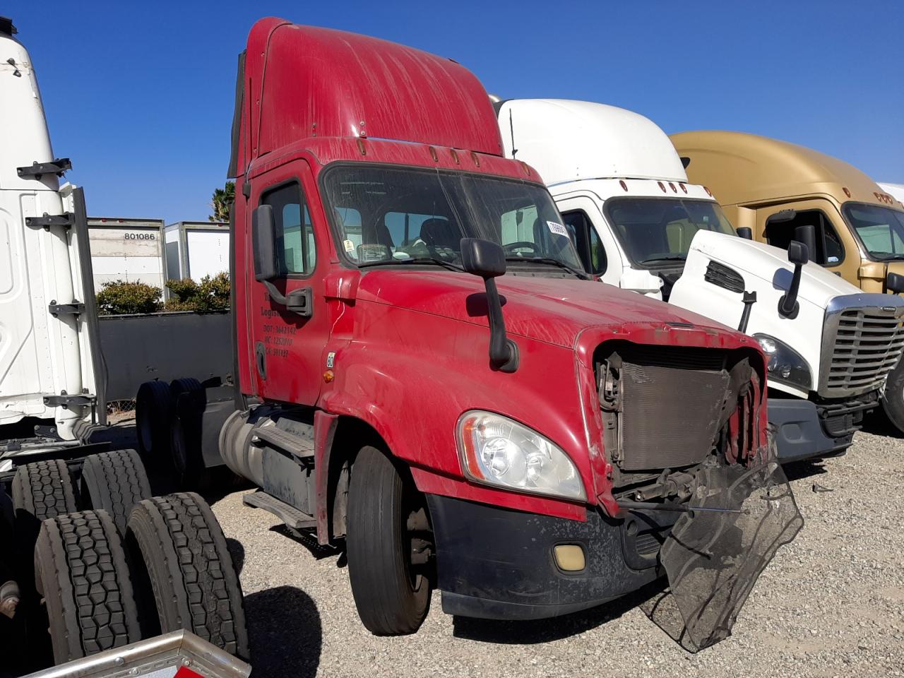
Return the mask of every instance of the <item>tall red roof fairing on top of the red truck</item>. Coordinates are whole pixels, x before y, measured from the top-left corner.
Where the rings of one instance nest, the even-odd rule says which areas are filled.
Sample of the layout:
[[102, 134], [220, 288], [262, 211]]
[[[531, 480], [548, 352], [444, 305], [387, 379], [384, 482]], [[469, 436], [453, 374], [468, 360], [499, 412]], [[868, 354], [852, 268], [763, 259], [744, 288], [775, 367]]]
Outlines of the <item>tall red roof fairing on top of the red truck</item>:
[[240, 55], [236, 92], [230, 176], [304, 139], [389, 139], [502, 155], [492, 104], [470, 71], [378, 38], [261, 19]]

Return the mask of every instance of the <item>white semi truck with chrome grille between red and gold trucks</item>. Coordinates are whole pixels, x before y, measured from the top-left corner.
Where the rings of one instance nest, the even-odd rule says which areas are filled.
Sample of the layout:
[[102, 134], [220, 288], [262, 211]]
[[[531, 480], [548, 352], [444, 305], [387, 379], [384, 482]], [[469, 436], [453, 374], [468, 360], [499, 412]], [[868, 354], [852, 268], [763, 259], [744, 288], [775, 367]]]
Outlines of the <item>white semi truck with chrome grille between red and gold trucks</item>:
[[862, 293], [808, 263], [800, 243], [786, 251], [739, 237], [643, 116], [564, 99], [494, 106], [506, 155], [540, 172], [590, 271], [738, 327], [771, 356], [780, 459], [850, 446], [904, 344], [899, 297]]

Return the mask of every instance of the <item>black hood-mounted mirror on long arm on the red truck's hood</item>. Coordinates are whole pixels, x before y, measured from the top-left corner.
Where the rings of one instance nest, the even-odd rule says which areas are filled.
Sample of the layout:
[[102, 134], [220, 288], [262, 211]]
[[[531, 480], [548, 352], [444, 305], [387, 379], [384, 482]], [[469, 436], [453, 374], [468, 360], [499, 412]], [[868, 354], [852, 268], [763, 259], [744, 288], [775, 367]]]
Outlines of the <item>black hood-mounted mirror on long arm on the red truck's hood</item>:
[[498, 243], [479, 238], [462, 238], [462, 267], [484, 278], [486, 313], [490, 321], [490, 368], [500, 372], [518, 369], [518, 344], [505, 334], [503, 304], [494, 278], [505, 273], [505, 251]]

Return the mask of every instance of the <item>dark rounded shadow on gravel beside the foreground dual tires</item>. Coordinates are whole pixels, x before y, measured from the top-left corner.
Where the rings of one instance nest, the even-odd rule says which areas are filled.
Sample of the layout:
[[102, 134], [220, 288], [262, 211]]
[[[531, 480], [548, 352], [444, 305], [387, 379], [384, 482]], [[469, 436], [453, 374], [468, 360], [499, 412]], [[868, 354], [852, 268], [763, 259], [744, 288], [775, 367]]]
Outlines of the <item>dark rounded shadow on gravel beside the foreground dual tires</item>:
[[303, 590], [280, 586], [245, 597], [254, 674], [313, 678], [320, 664], [323, 628], [314, 600]]

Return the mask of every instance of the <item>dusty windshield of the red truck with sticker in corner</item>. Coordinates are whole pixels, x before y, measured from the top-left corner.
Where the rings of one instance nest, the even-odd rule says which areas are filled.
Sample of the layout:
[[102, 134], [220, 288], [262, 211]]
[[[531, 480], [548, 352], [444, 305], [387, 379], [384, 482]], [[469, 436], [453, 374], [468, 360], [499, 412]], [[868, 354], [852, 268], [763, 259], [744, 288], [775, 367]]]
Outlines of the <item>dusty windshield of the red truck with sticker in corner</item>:
[[[583, 266], [545, 188], [517, 179], [385, 165], [325, 173], [340, 249], [358, 266], [459, 268], [462, 238], [500, 243], [514, 265]], [[511, 265], [511, 264], [510, 264]]]

